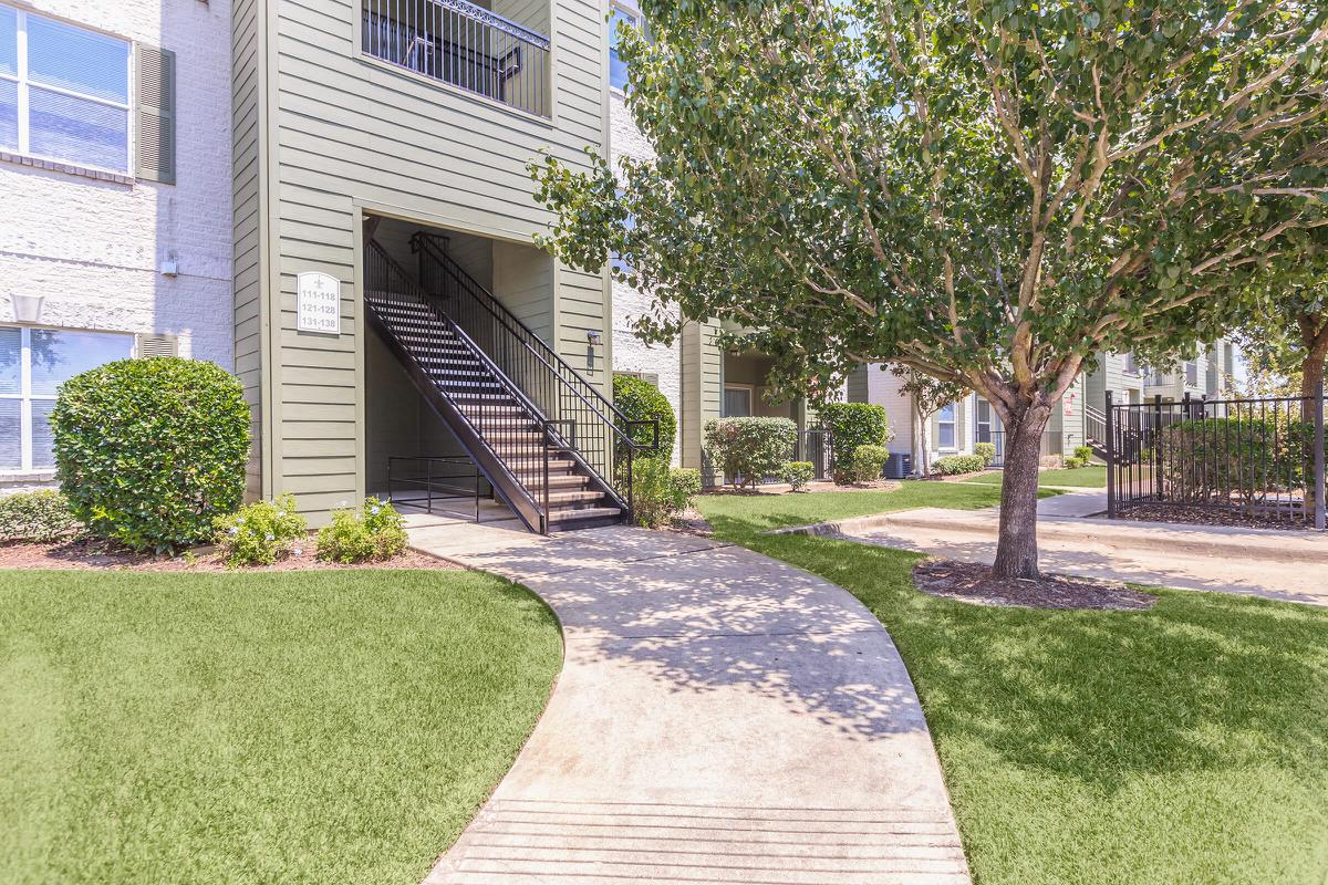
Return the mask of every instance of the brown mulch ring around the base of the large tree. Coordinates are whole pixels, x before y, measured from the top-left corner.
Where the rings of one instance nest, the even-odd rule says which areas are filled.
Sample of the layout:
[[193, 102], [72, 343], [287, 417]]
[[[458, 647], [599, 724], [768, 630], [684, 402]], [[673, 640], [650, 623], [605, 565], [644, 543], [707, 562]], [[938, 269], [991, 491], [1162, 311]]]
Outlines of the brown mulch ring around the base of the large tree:
[[1044, 575], [1037, 581], [993, 579], [987, 565], [936, 559], [914, 567], [914, 584], [923, 593], [975, 605], [1137, 612], [1157, 602], [1155, 596], [1131, 590], [1120, 581], [1058, 575]]

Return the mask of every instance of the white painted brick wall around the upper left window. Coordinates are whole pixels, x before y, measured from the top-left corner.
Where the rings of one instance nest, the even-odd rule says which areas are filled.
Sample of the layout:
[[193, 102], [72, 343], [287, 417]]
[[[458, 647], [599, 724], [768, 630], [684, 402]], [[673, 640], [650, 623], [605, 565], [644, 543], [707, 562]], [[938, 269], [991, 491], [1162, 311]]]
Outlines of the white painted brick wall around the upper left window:
[[[0, 162], [0, 322], [179, 336], [234, 368], [230, 0], [33, 0], [25, 8], [175, 52], [177, 184], [94, 180]], [[158, 272], [175, 259], [179, 276]]]

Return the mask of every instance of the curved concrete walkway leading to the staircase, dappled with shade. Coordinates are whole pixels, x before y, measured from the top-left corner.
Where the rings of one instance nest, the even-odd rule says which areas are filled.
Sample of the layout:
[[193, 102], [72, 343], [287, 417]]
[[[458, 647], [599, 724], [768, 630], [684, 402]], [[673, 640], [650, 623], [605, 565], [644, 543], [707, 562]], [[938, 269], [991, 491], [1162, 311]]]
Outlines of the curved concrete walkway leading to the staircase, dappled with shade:
[[548, 709], [429, 885], [968, 882], [908, 673], [846, 590], [633, 528], [410, 540], [539, 593], [566, 642]]

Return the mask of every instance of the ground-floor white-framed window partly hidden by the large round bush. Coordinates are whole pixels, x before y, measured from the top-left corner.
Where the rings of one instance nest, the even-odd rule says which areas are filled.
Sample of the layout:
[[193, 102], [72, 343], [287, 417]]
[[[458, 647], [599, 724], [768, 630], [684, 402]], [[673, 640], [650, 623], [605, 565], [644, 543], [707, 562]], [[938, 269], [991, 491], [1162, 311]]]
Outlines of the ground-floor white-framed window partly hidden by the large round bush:
[[60, 385], [133, 352], [131, 334], [0, 326], [0, 470], [54, 467], [49, 417]]

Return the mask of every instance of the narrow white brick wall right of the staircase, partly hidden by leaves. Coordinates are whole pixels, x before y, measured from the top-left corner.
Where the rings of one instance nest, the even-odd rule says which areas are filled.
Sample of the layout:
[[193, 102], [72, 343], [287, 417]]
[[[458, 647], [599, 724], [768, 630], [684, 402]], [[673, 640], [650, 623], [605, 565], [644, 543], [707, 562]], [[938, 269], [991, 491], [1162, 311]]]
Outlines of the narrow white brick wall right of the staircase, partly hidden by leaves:
[[[614, 169], [624, 157], [651, 157], [649, 142], [632, 122], [622, 96], [610, 94], [608, 100], [610, 147]], [[633, 321], [652, 310], [653, 299], [623, 283], [614, 283], [614, 370], [648, 372], [659, 375], [660, 391], [668, 397], [673, 414], [683, 413], [683, 352], [680, 342], [672, 345], [647, 345], [633, 330]], [[668, 308], [677, 317], [677, 306]], [[679, 425], [681, 434], [681, 423]], [[673, 463], [680, 463], [681, 439], [673, 444]]]

